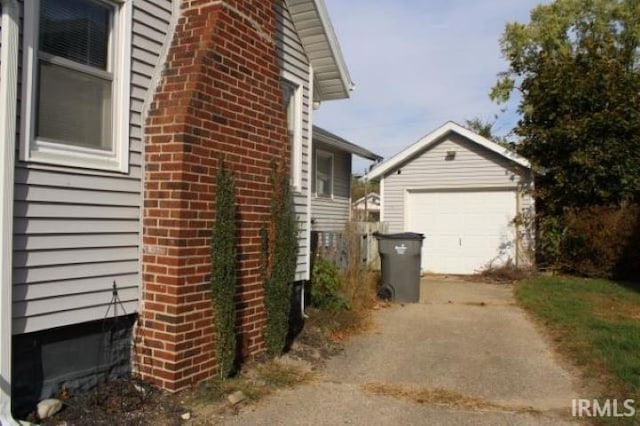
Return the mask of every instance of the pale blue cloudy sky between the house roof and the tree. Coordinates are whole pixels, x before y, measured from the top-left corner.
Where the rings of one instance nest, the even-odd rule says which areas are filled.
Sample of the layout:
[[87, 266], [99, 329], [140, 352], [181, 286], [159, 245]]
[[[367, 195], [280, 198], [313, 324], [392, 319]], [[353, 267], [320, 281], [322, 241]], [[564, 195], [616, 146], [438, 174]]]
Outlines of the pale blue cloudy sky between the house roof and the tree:
[[[541, 0], [325, 0], [355, 83], [314, 123], [389, 158], [448, 120], [493, 120], [489, 99], [506, 70], [499, 39], [509, 21], [527, 22]], [[508, 133], [515, 105], [494, 132]], [[354, 161], [361, 174], [366, 161]]]

